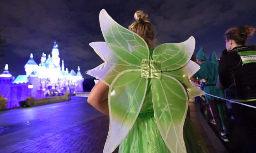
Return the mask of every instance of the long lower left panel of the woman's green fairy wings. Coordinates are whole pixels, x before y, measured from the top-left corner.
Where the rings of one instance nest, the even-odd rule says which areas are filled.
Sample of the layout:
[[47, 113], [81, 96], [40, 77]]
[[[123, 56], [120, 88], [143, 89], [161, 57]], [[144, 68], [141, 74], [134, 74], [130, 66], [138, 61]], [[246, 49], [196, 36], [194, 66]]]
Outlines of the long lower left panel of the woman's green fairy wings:
[[103, 153], [111, 153], [125, 139], [134, 125], [147, 91], [148, 79], [141, 70], [118, 74], [109, 88], [109, 133]]

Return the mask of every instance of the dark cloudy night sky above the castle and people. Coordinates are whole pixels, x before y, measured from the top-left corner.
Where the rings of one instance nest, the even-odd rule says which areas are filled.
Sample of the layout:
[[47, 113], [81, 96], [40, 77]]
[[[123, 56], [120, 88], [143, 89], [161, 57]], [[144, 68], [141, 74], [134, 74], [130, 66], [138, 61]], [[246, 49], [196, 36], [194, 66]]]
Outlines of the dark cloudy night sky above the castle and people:
[[[142, 10], [155, 27], [158, 44], [183, 42], [192, 35], [195, 52], [203, 46], [207, 58], [212, 51], [219, 56], [225, 49], [228, 28], [256, 27], [256, 0], [0, 0], [0, 27], [8, 37], [0, 73], [8, 63], [14, 76], [26, 74], [30, 53], [39, 64], [42, 52], [51, 53], [54, 40], [69, 71], [80, 66], [84, 74], [98, 66], [103, 61], [89, 43], [104, 41], [101, 9], [124, 27], [133, 22], [135, 11]], [[247, 44], [256, 44], [256, 34]]]

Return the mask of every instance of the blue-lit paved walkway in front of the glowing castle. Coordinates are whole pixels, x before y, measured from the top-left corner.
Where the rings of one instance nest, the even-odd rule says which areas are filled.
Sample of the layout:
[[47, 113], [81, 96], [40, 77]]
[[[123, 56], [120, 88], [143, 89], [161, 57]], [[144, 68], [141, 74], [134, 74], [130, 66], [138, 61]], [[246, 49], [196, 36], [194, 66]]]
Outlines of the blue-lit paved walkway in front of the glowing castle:
[[71, 97], [69, 102], [0, 111], [0, 153], [101, 153], [109, 118]]

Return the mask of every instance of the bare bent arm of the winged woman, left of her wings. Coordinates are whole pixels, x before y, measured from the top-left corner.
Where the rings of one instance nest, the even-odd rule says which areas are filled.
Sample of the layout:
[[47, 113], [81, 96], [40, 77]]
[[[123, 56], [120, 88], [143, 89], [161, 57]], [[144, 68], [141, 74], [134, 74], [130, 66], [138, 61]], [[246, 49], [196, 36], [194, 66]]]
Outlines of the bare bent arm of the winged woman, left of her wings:
[[98, 81], [90, 92], [87, 102], [105, 115], [109, 115], [108, 105], [109, 87], [102, 81]]

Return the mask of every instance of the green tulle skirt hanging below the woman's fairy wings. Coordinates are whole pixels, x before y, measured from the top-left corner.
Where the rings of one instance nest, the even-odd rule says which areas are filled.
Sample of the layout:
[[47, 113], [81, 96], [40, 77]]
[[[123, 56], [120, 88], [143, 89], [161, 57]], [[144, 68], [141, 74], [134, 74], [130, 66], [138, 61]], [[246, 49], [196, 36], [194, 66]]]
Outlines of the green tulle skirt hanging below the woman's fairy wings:
[[[187, 153], [208, 153], [189, 118], [185, 120], [183, 136]], [[131, 131], [120, 144], [119, 153], [170, 153], [156, 125], [154, 112], [139, 114]]]

